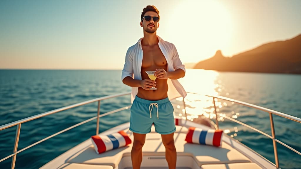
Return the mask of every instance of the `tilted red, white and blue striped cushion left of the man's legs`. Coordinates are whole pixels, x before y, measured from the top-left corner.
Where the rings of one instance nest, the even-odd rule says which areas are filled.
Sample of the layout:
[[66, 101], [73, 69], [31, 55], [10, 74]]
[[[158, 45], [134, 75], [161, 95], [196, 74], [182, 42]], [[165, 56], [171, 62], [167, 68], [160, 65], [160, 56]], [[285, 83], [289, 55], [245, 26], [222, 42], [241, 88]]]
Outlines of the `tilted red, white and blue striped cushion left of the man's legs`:
[[119, 131], [109, 135], [95, 135], [91, 137], [91, 140], [97, 154], [132, 143], [132, 140], [124, 131]]

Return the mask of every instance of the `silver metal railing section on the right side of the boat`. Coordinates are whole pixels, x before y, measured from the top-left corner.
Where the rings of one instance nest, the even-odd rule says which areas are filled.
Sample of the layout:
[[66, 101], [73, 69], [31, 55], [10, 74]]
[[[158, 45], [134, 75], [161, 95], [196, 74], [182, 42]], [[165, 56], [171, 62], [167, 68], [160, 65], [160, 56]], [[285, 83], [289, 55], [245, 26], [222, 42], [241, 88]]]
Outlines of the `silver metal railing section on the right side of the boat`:
[[[195, 93], [194, 93], [195, 94]], [[282, 141], [276, 139], [276, 135], [275, 135], [275, 127], [274, 127], [274, 120], [273, 120], [273, 114], [274, 115], [278, 115], [280, 117], [283, 117], [283, 118], [287, 118], [289, 120], [292, 120], [292, 121], [296, 121], [298, 123], [301, 123], [301, 118], [297, 118], [297, 117], [294, 117], [292, 115], [287, 115], [287, 114], [284, 114], [284, 113], [281, 113], [281, 112], [277, 112], [275, 110], [271, 110], [271, 109], [267, 109], [267, 108], [264, 108], [264, 107], [261, 107], [261, 106], [257, 106], [257, 105], [254, 105], [254, 104], [250, 104], [250, 103], [246, 103], [246, 102], [243, 102], [243, 101], [239, 101], [239, 100], [234, 100], [234, 99], [231, 99], [231, 98], [228, 98], [228, 97], [223, 97], [223, 96], [211, 96], [211, 95], [205, 95], [205, 96], [208, 96], [208, 97], [212, 97], [213, 98], [213, 104], [214, 104], [214, 112], [215, 112], [215, 117], [216, 117], [216, 125], [217, 125], [217, 128], [219, 128], [219, 121], [218, 121], [218, 116], [220, 117], [223, 117], [223, 118], [227, 118], [228, 120], [231, 120], [231, 121], [234, 121], [238, 124], [241, 124], [243, 126], [246, 126], [254, 131], [257, 131], [259, 132], [260, 134], [263, 134], [265, 135], [266, 137], [270, 138], [273, 140], [273, 147], [274, 147], [274, 156], [275, 156], [275, 165], [276, 165], [276, 168], [279, 168], [279, 160], [278, 160], [278, 151], [277, 151], [277, 145], [276, 145], [276, 142], [285, 146], [286, 148], [292, 150], [293, 152], [301, 155], [301, 152], [297, 151], [296, 149], [288, 146], [287, 144], [283, 143]], [[264, 112], [268, 112], [269, 113], [269, 116], [270, 116], [270, 124], [271, 124], [271, 132], [272, 132], [272, 136], [270, 136], [269, 134], [266, 134], [264, 133], [263, 131], [260, 131], [256, 128], [253, 128], [241, 121], [238, 121], [238, 120], [235, 120], [231, 117], [228, 117], [226, 115], [223, 115], [221, 113], [217, 113], [216, 111], [216, 102], [217, 100], [216, 99], [222, 99], [222, 100], [227, 100], [227, 101], [231, 101], [231, 102], [234, 102], [234, 103], [237, 103], [237, 104], [240, 104], [240, 105], [244, 105], [244, 106], [248, 106], [248, 107], [251, 107], [251, 108], [255, 108], [255, 109], [258, 109], [258, 110], [261, 110], [261, 111], [264, 111]]]

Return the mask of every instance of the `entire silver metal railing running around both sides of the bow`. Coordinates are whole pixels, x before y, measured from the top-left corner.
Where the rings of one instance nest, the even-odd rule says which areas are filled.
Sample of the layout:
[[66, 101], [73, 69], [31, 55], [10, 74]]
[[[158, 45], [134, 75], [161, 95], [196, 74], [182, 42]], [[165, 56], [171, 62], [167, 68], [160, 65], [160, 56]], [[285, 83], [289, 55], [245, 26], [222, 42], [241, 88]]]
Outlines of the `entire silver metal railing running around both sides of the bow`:
[[[190, 92], [188, 92], [190, 93]], [[125, 92], [125, 93], [120, 93], [120, 94], [114, 94], [114, 95], [109, 95], [109, 96], [104, 96], [104, 97], [99, 97], [99, 98], [96, 98], [96, 99], [92, 99], [92, 100], [87, 100], [87, 101], [84, 101], [84, 102], [81, 102], [81, 103], [76, 103], [76, 104], [73, 104], [73, 105], [70, 105], [70, 106], [65, 106], [65, 107], [62, 107], [62, 108], [59, 108], [59, 109], [54, 109], [54, 110], [51, 110], [51, 111], [48, 111], [48, 112], [44, 112], [44, 113], [41, 113], [41, 114], [38, 114], [38, 115], [33, 115], [31, 117], [28, 117], [28, 118], [24, 118], [24, 119], [21, 119], [21, 120], [18, 120], [18, 121], [14, 121], [14, 122], [11, 122], [9, 124], [5, 124], [5, 125], [2, 125], [0, 126], [0, 131], [1, 130], [4, 130], [6, 128], [10, 128], [10, 127], [13, 127], [13, 126], [17, 126], [17, 130], [16, 130], [16, 136], [15, 136], [15, 143], [14, 143], [14, 151], [11, 155], [8, 155], [6, 156], [5, 158], [2, 158], [0, 159], [0, 162], [12, 157], [12, 161], [11, 161], [11, 169], [14, 169], [15, 167], [15, 162], [16, 162], [16, 157], [17, 157], [17, 154], [20, 153], [20, 152], [23, 152], [24, 150], [26, 149], [29, 149], [30, 147], [32, 146], [35, 146], [39, 143], [42, 143], [43, 141], [45, 140], [48, 140], [58, 134], [61, 134], [65, 131], [68, 131], [72, 128], [75, 128], [79, 125], [82, 125], [82, 124], [85, 124], [89, 121], [92, 121], [92, 120], [95, 120], [97, 119], [97, 124], [96, 124], [96, 135], [99, 134], [99, 118], [101, 117], [104, 117], [106, 115], [110, 115], [112, 113], [115, 113], [115, 112], [119, 112], [119, 111], [122, 111], [122, 110], [125, 110], [125, 109], [129, 109], [131, 107], [131, 105], [129, 106], [125, 106], [125, 107], [122, 107], [122, 108], [119, 108], [119, 109], [115, 109], [113, 111], [110, 111], [110, 112], [106, 112], [106, 113], [103, 113], [103, 114], [100, 114], [100, 102], [101, 100], [106, 100], [106, 99], [110, 99], [110, 98], [114, 98], [114, 97], [120, 97], [120, 96], [125, 96], [125, 95], [129, 95], [131, 94], [131, 92]], [[191, 93], [191, 94], [196, 94], [196, 93]], [[276, 146], [276, 142], [282, 144], [283, 146], [287, 147], [288, 149], [292, 150], [293, 152], [301, 155], [301, 153], [299, 151], [297, 151], [296, 149], [293, 149], [292, 147], [288, 146], [287, 144], [281, 142], [280, 140], [277, 140], [276, 139], [276, 136], [275, 136], [275, 128], [274, 128], [274, 121], [273, 121], [273, 116], [272, 114], [274, 115], [278, 115], [278, 116], [281, 116], [281, 117], [284, 117], [284, 118], [287, 118], [287, 119], [290, 119], [292, 121], [296, 121], [296, 122], [299, 122], [301, 123], [301, 119], [300, 118], [297, 118], [297, 117], [294, 117], [294, 116], [291, 116], [291, 115], [287, 115], [287, 114], [284, 114], [284, 113], [281, 113], [281, 112], [277, 112], [277, 111], [274, 111], [274, 110], [271, 110], [271, 109], [267, 109], [267, 108], [264, 108], [264, 107], [261, 107], [261, 106], [256, 106], [256, 105], [253, 105], [253, 104], [250, 104], [250, 103], [246, 103], [246, 102], [242, 102], [242, 101], [239, 101], [239, 100], [234, 100], [234, 99], [231, 99], [231, 98], [227, 98], [227, 97], [222, 97], [222, 96], [211, 96], [211, 95], [206, 95], [208, 97], [212, 97], [213, 98], [213, 104], [214, 104], [214, 111], [215, 111], [215, 114], [216, 114], [216, 125], [217, 125], [217, 128], [219, 128], [219, 122], [218, 122], [218, 116], [221, 116], [223, 118], [227, 118], [231, 121], [234, 121], [238, 124], [241, 124], [241, 125], [244, 125], [250, 129], [253, 129], [254, 131], [257, 131], [263, 135], [265, 135], [266, 137], [270, 138], [273, 140], [273, 145], [274, 145], [274, 154], [275, 154], [275, 165], [277, 168], [279, 168], [279, 162], [278, 162], [278, 153], [277, 153], [277, 146]], [[251, 108], [255, 108], [255, 109], [259, 109], [259, 110], [262, 110], [264, 112], [268, 112], [270, 114], [270, 123], [271, 123], [271, 131], [272, 131], [272, 136], [256, 129], [256, 128], [253, 128], [247, 124], [244, 124], [243, 122], [240, 122], [238, 120], [235, 120], [233, 118], [230, 118], [228, 116], [225, 116], [225, 115], [222, 115], [220, 113], [217, 113], [216, 111], [216, 99], [222, 99], [222, 100], [228, 100], [228, 101], [231, 101], [231, 102], [234, 102], [234, 103], [238, 103], [238, 104], [241, 104], [241, 105], [244, 105], [244, 106], [248, 106], [248, 107], [251, 107]], [[35, 119], [38, 119], [38, 118], [41, 118], [41, 117], [44, 117], [44, 116], [48, 116], [48, 115], [51, 115], [51, 114], [54, 114], [54, 113], [57, 113], [57, 112], [61, 112], [61, 111], [64, 111], [64, 110], [67, 110], [67, 109], [72, 109], [74, 107], [79, 107], [79, 106], [82, 106], [82, 105], [86, 105], [86, 104], [89, 104], [89, 103], [94, 103], [94, 102], [98, 102], [98, 109], [97, 109], [97, 116], [95, 117], [92, 117], [92, 118], [89, 118], [85, 121], [82, 121], [78, 124], [75, 124], [69, 128], [66, 128], [64, 130], [61, 130], [55, 134], [52, 134], [51, 136], [48, 136], [42, 140], [39, 140], [37, 141], [36, 143], [33, 143], [21, 150], [18, 150], [18, 143], [19, 143], [19, 136], [20, 136], [20, 129], [21, 129], [21, 124], [25, 123], [25, 122], [28, 122], [28, 121], [32, 121], [32, 120], [35, 120]], [[186, 119], [187, 119], [187, 115], [186, 115], [186, 105], [185, 105], [185, 100], [183, 99], [183, 104], [184, 104], [184, 109], [185, 109], [185, 116], [186, 116]]]

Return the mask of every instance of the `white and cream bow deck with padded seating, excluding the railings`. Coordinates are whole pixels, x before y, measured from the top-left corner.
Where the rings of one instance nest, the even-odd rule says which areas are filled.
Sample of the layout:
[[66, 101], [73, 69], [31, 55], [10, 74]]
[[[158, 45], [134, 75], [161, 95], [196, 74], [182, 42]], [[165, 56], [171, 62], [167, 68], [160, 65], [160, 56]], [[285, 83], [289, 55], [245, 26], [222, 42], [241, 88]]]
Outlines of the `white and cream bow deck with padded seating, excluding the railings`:
[[[187, 121], [186, 125], [199, 128], [209, 127]], [[177, 150], [177, 168], [224, 168], [224, 169], [257, 169], [276, 168], [274, 164], [253, 152], [237, 140], [223, 135], [221, 147], [186, 143], [185, 137], [188, 129], [184, 126], [176, 126], [174, 133], [175, 147]], [[133, 134], [129, 131], [129, 123], [122, 124], [101, 134], [110, 134], [124, 130], [133, 140]], [[97, 154], [91, 139], [77, 145], [65, 152], [41, 168], [104, 168], [124, 169], [131, 168], [132, 144], [119, 149]], [[143, 160], [141, 168], [168, 168], [165, 159], [165, 147], [161, 142], [161, 135], [154, 131], [146, 135], [146, 141], [142, 148]]]

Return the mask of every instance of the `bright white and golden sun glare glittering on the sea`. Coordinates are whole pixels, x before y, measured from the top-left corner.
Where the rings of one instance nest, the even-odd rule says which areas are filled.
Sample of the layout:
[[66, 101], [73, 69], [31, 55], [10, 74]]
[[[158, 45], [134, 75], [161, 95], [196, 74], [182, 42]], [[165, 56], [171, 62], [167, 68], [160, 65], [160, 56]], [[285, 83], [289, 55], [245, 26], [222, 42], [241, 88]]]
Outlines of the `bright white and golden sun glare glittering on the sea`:
[[[188, 92], [185, 97], [186, 113], [183, 104], [183, 98], [179, 97], [174, 104], [175, 115], [182, 119], [190, 121], [200, 121], [201, 119], [210, 119], [216, 121], [215, 111], [219, 113], [218, 121], [224, 121], [225, 116], [238, 118], [240, 113], [231, 110], [234, 102], [225, 101], [222, 99], [208, 97], [207, 95], [218, 95], [225, 90], [223, 81], [217, 80], [219, 72], [202, 70], [202, 69], [187, 69], [184, 78], [179, 79], [185, 90]], [[190, 93], [189, 93], [190, 92]], [[196, 94], [191, 94], [196, 93]], [[226, 93], [229, 95], [229, 93]], [[216, 109], [214, 109], [214, 105]], [[231, 134], [231, 137], [237, 136], [231, 132], [238, 132], [237, 128], [225, 129], [225, 134]]]

